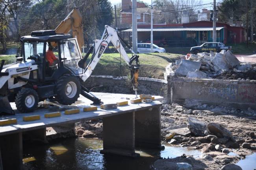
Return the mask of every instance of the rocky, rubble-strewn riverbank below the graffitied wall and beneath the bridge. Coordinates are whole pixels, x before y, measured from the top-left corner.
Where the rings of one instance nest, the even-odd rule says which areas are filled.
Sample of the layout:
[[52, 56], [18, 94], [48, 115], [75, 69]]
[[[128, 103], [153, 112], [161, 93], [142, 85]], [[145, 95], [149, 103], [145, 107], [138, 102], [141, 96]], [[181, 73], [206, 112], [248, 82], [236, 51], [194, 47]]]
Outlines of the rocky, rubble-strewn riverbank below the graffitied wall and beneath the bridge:
[[[159, 159], [153, 165], [157, 170], [176, 170], [174, 162], [187, 162], [194, 170], [219, 170], [224, 165], [232, 166], [230, 163], [237, 163], [256, 151], [255, 110], [206, 104], [194, 108], [163, 104], [161, 109], [162, 141], [173, 146], [199, 149], [202, 155], [197, 159], [189, 155]], [[102, 120], [79, 122], [76, 124], [76, 135], [102, 138], [102, 126]], [[165, 168], [163, 165], [166, 165]]]

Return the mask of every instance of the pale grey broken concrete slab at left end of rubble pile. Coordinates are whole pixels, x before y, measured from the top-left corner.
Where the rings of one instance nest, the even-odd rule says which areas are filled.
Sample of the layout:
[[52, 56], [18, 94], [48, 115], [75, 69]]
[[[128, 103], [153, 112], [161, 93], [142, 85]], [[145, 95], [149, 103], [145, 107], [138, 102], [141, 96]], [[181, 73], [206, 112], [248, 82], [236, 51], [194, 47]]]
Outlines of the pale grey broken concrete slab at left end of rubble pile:
[[175, 71], [175, 75], [186, 76], [189, 71], [199, 70], [201, 66], [200, 62], [181, 60], [178, 68]]

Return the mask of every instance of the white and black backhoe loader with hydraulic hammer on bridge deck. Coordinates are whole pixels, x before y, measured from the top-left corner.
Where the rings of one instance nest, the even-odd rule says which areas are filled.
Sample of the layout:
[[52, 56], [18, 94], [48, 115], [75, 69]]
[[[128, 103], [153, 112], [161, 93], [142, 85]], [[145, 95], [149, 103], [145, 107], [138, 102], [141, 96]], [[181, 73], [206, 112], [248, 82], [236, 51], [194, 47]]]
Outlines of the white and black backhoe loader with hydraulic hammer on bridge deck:
[[[72, 12], [65, 18], [66, 22], [74, 16]], [[93, 101], [93, 104], [101, 104], [100, 99], [90, 93], [85, 85], [110, 42], [128, 64], [132, 86], [137, 95], [139, 56], [130, 48], [132, 57], [128, 57], [117, 30], [105, 26], [101, 39], [94, 40], [91, 48], [82, 57], [83, 31], [76, 25], [82, 26], [82, 19], [77, 23], [76, 18], [71, 21], [69, 33], [72, 35], [57, 33], [63, 28], [65, 21], [55, 30], [32, 31], [31, 35], [20, 38], [22, 46], [21, 53], [17, 55], [17, 63], [3, 67], [4, 60], [1, 61], [0, 113], [15, 114], [10, 102], [15, 102], [19, 112], [28, 113], [37, 108], [39, 101], [53, 98], [60, 104], [70, 105], [77, 101], [80, 94]], [[128, 46], [126, 42], [123, 43]], [[58, 64], [54, 66], [50, 66], [46, 60], [46, 51], [52, 45], [57, 49], [58, 56]]]

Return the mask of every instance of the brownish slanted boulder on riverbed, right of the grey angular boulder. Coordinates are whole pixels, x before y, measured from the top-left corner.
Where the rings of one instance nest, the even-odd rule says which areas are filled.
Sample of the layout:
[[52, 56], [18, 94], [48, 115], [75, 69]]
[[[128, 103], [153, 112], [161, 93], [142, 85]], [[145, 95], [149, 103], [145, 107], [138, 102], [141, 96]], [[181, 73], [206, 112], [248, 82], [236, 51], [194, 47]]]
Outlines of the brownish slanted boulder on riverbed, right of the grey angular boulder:
[[232, 133], [229, 130], [227, 130], [226, 128], [220, 126], [217, 123], [213, 123], [213, 122], [208, 123], [207, 129], [211, 134], [213, 134], [217, 137], [220, 137], [220, 138], [226, 137], [226, 138], [230, 139], [231, 141], [236, 142]]

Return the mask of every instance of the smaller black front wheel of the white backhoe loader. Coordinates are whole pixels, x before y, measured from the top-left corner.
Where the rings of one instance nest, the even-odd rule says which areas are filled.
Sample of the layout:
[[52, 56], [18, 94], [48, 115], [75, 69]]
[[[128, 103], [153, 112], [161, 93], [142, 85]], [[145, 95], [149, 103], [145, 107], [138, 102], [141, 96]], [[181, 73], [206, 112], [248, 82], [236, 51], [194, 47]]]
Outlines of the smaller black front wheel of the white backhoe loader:
[[15, 97], [15, 104], [22, 113], [33, 112], [38, 105], [37, 92], [30, 88], [22, 88]]

